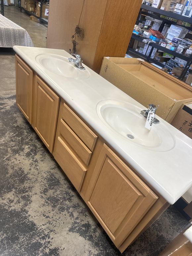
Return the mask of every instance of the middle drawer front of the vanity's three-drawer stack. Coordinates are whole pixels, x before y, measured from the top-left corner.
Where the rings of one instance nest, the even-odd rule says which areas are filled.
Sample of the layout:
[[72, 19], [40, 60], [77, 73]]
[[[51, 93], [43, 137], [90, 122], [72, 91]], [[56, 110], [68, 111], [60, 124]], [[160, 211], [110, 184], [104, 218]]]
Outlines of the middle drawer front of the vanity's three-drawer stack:
[[92, 152], [88, 147], [79, 139], [79, 137], [72, 131], [72, 129], [61, 119], [60, 134], [67, 140], [73, 150], [88, 165], [91, 159]]

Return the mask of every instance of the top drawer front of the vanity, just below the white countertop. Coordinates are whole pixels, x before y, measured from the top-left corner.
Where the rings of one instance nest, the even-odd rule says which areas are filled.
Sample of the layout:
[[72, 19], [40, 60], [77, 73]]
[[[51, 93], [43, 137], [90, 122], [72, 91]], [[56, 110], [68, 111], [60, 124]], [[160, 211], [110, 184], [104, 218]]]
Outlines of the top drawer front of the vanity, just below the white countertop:
[[62, 119], [72, 128], [85, 145], [93, 151], [97, 135], [64, 103]]

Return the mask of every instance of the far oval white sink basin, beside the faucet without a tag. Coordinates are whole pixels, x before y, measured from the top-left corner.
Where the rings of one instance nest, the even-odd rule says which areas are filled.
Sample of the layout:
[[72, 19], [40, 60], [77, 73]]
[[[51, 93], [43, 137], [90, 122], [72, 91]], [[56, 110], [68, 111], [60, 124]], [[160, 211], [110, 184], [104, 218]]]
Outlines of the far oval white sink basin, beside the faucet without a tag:
[[90, 77], [88, 70], [80, 70], [69, 62], [68, 58], [57, 54], [39, 54], [35, 58], [36, 62], [46, 70], [73, 79], [86, 79]]

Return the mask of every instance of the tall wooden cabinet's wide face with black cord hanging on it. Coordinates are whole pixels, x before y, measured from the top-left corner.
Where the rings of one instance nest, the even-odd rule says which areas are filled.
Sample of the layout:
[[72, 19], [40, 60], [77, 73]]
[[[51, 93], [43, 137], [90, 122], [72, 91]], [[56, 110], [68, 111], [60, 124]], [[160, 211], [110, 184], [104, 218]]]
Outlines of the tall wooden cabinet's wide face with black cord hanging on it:
[[84, 29], [84, 38], [76, 36], [76, 50], [83, 63], [92, 68], [106, 4], [107, 0], [85, 0], [81, 14], [83, 0], [50, 0], [46, 47], [72, 50], [72, 35], [81, 14], [79, 27]]

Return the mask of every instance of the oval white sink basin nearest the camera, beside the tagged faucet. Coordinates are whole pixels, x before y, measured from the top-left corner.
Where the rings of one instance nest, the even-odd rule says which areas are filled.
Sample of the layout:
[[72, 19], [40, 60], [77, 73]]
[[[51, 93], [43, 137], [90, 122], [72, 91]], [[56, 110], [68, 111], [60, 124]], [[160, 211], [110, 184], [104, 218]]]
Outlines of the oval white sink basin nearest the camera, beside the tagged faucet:
[[116, 100], [104, 100], [97, 105], [97, 114], [108, 128], [134, 143], [153, 151], [168, 151], [174, 147], [174, 139], [167, 126], [160, 122], [145, 128], [146, 118], [139, 107]]

